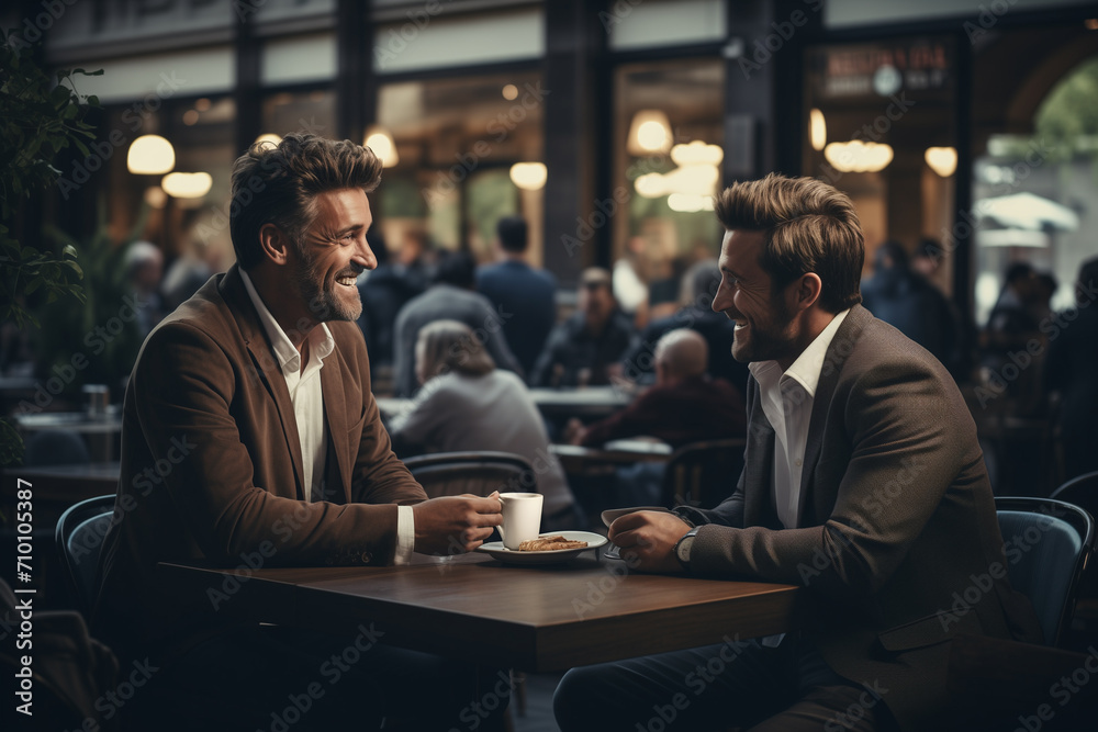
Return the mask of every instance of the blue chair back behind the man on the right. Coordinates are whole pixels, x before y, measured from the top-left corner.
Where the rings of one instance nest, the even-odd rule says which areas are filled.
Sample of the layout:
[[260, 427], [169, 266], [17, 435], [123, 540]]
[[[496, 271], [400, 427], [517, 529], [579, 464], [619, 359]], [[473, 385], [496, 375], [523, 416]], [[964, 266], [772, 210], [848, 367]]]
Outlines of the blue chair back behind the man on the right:
[[1094, 550], [1094, 519], [1052, 498], [996, 498], [995, 508], [1010, 584], [1033, 604], [1045, 642], [1057, 645]]

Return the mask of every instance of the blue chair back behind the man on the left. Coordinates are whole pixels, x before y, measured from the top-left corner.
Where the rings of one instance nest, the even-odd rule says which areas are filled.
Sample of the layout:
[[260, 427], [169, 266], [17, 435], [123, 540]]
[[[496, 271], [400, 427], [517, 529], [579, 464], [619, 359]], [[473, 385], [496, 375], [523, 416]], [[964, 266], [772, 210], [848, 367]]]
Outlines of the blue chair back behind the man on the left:
[[70, 506], [57, 519], [54, 540], [72, 597], [85, 618], [96, 601], [96, 570], [114, 514], [114, 496], [97, 496]]

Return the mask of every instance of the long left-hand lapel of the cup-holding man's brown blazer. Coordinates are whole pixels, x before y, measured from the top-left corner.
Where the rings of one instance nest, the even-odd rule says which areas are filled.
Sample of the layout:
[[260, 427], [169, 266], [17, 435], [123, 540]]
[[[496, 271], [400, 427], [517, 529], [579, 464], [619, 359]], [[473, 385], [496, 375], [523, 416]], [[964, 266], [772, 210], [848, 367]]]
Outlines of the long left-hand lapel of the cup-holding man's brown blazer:
[[[298, 499], [303, 499], [304, 492], [304, 468], [301, 460], [301, 438], [298, 436], [298, 420], [293, 414], [293, 402], [290, 401], [290, 390], [285, 386], [285, 378], [279, 368], [278, 358], [267, 338], [262, 324], [259, 322], [259, 314], [256, 313], [248, 291], [240, 279], [239, 267], [234, 264], [225, 274], [221, 283], [221, 294], [226, 303], [229, 303], [229, 312], [236, 318], [236, 325], [244, 338], [244, 344], [251, 356], [251, 363], [256, 374], [274, 402], [278, 410], [279, 423], [282, 426], [282, 437], [293, 463], [293, 476], [298, 488]], [[289, 497], [289, 496], [287, 496]]]

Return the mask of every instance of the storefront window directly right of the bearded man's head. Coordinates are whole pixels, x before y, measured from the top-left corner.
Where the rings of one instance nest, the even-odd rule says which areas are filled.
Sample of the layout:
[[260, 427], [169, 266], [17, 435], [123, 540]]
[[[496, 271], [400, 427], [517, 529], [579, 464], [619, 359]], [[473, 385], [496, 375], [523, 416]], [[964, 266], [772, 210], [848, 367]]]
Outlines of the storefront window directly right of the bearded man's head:
[[552, 174], [541, 159], [544, 104], [537, 72], [381, 87], [368, 135], [395, 143], [377, 206], [390, 250], [467, 249], [484, 261], [496, 221], [522, 215], [530, 260], [540, 263], [544, 187]]

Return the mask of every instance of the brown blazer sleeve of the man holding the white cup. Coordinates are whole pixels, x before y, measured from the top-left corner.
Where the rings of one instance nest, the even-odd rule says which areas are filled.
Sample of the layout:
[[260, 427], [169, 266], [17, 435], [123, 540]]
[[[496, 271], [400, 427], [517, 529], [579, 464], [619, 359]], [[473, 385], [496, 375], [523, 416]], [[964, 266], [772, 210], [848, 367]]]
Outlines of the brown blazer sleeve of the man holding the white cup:
[[[278, 495], [276, 486], [255, 484], [254, 461], [272, 464], [264, 453], [277, 441], [270, 429], [279, 429], [238, 419], [246, 408], [242, 402], [262, 393], [259, 381], [250, 362], [229, 357], [203, 330], [182, 323], [158, 328], [132, 375], [137, 425], [127, 415], [125, 428], [136, 427], [141, 435], [127, 436], [138, 443], [130, 448], [133, 454], [124, 450], [124, 463], [136, 457], [170, 465], [153, 489], [168, 494], [187, 534], [213, 562], [238, 560], [270, 542], [272, 566], [390, 563], [395, 505], [305, 503]], [[380, 424], [370, 402], [365, 418]]]

